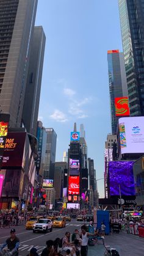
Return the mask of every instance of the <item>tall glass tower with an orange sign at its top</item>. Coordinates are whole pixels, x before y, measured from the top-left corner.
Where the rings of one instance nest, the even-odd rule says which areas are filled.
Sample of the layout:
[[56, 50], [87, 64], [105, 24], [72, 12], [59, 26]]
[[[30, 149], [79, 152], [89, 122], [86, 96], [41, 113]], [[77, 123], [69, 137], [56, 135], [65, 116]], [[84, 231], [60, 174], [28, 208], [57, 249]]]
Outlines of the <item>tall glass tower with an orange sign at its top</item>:
[[128, 95], [124, 56], [119, 50], [107, 51], [109, 69], [110, 113], [112, 134], [117, 133], [118, 117], [115, 115], [115, 98]]

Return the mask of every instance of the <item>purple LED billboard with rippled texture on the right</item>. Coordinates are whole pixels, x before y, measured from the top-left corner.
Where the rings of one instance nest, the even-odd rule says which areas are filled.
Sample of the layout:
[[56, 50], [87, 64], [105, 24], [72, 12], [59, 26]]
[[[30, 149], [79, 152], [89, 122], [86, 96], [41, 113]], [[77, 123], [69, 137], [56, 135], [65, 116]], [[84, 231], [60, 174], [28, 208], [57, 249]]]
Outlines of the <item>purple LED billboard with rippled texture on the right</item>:
[[[109, 162], [110, 196], [135, 196], [132, 161]], [[120, 186], [119, 186], [120, 185]]]

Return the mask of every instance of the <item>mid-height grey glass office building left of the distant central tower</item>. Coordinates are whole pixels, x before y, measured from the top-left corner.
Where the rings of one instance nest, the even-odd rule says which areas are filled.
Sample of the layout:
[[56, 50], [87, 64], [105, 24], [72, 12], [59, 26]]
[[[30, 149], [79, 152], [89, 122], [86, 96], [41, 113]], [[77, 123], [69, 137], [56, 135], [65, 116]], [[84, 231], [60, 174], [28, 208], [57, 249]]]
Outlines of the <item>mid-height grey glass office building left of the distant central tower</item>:
[[54, 180], [57, 134], [53, 128], [46, 128], [46, 134], [47, 138], [43, 178]]

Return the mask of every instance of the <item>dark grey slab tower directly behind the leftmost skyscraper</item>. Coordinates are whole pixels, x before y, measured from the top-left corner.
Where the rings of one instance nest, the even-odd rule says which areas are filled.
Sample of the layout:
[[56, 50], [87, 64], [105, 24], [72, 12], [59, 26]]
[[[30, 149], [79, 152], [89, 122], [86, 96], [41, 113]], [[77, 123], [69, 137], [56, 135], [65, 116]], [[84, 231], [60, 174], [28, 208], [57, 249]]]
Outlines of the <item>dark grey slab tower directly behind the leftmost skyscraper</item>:
[[[24, 126], [26, 127], [27, 132], [34, 136], [37, 134], [37, 119], [40, 103], [45, 42], [46, 37], [43, 27], [34, 27], [23, 108]], [[27, 109], [29, 109], [29, 111], [27, 111]]]

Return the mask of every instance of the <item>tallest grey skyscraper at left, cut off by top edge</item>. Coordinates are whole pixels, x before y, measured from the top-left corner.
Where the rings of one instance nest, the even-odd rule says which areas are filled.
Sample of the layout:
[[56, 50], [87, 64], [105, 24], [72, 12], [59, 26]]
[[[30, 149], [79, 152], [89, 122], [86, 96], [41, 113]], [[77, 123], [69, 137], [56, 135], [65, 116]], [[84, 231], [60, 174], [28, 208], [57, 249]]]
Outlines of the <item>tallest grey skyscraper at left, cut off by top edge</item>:
[[0, 1], [0, 105], [20, 127], [37, 0]]

